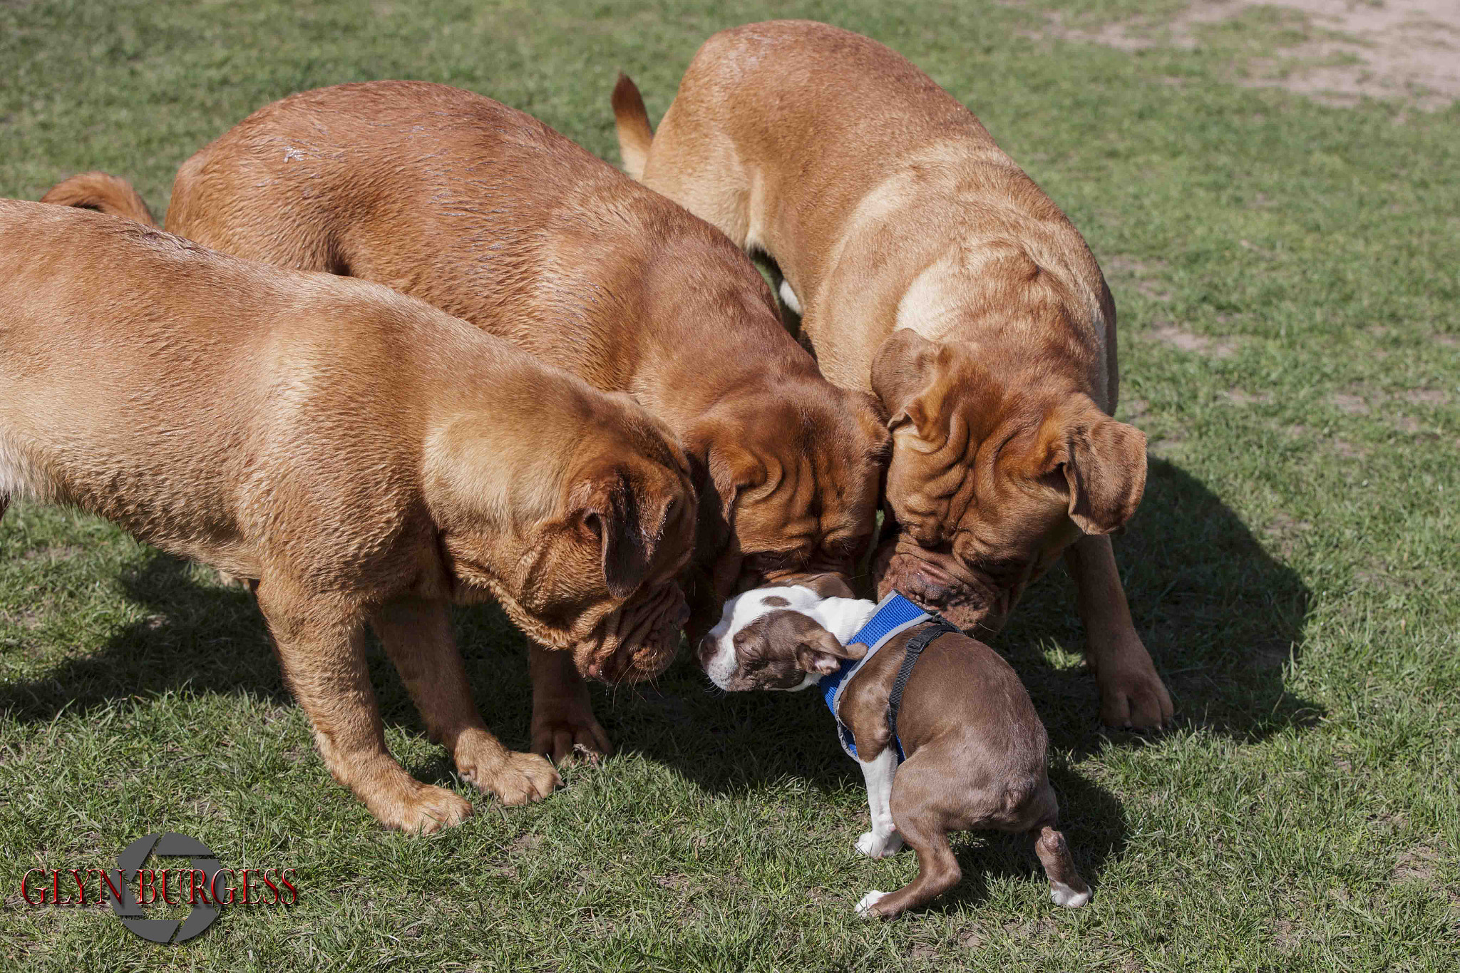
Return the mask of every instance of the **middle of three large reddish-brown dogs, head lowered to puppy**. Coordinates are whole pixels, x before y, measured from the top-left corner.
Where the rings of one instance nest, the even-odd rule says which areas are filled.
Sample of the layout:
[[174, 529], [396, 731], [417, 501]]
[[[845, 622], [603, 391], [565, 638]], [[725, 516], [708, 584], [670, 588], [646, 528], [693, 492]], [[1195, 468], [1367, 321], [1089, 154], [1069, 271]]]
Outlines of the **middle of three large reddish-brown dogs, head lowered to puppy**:
[[[92, 178], [47, 198], [146, 217]], [[726, 595], [850, 576], [870, 544], [876, 400], [821, 375], [723, 233], [530, 115], [422, 82], [293, 95], [181, 166], [166, 228], [385, 283], [632, 394], [696, 468], [694, 637]]]

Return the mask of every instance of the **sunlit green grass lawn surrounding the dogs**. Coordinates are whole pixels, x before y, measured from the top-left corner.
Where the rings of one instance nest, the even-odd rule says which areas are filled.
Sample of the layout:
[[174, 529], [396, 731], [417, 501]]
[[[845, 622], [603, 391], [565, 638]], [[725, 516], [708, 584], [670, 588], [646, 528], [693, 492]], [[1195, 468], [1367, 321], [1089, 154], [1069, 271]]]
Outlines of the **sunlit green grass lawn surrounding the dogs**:
[[[896, 47], [1107, 267], [1121, 414], [1153, 443], [1117, 556], [1181, 716], [1102, 734], [1070, 585], [1040, 582], [997, 648], [1050, 728], [1094, 904], [1053, 909], [1023, 842], [971, 834], [953, 893], [863, 923], [853, 903], [915, 864], [851, 850], [860, 775], [810, 696], [714, 697], [686, 661], [599, 691], [622, 756], [505, 810], [453, 776], [377, 654], [393, 750], [479, 808], [387, 833], [314, 754], [242, 592], [20, 506], [0, 524], [0, 966], [1456, 969], [1460, 109], [1241, 86], [1244, 58], [1305, 29], [1291, 18], [1196, 50], [1031, 36], [1079, 6], [0, 0], [0, 194], [102, 168], [159, 213], [182, 159], [298, 89], [448, 82], [616, 160], [620, 67], [657, 118], [723, 26], [812, 16]], [[1181, 4], [1083, 7], [1082, 25], [1156, 12], [1156, 29]], [[483, 713], [526, 745], [523, 639], [492, 610], [457, 623]], [[164, 948], [20, 903], [26, 868], [104, 867], [155, 830], [296, 868], [298, 906]]]

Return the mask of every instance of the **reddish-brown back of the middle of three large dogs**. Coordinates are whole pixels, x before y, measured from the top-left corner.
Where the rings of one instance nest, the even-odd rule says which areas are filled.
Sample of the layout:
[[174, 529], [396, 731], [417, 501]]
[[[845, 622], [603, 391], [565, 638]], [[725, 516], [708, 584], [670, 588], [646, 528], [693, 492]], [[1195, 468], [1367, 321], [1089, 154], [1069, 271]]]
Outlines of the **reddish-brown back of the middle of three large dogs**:
[[[686, 368], [733, 368], [748, 343], [799, 353], [759, 274], [711, 226], [531, 115], [447, 85], [336, 85], [260, 108], [182, 163], [166, 226], [384, 283], [599, 388], [631, 385], [644, 359], [669, 357], [656, 353], [666, 338], [696, 328], [686, 314], [676, 334], [650, 330], [650, 305], [669, 296], [656, 289], [694, 302], [689, 280], [720, 302], [720, 327], [677, 350]], [[607, 327], [619, 319], [638, 327]]]

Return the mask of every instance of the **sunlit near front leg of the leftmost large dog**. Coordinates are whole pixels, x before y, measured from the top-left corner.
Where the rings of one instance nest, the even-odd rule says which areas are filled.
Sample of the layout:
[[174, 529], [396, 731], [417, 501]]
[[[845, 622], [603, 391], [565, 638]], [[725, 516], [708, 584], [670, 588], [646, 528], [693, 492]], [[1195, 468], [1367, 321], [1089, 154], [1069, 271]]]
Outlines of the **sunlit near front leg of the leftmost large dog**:
[[365, 620], [358, 605], [310, 597], [288, 582], [256, 585], [285, 683], [314, 725], [324, 766], [388, 827], [435, 831], [458, 824], [472, 804], [420, 783], [385, 748], [365, 667]]

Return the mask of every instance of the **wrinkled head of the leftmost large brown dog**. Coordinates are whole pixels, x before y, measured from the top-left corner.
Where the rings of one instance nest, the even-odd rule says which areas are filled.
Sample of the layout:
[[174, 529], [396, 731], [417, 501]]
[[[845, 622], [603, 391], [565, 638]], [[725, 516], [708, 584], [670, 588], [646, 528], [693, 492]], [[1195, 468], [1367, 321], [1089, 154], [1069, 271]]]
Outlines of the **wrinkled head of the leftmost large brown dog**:
[[689, 464], [666, 430], [638, 432], [584, 443], [549, 497], [552, 515], [511, 544], [482, 530], [504, 518], [469, 481], [448, 484], [451, 513], [437, 512], [461, 586], [489, 591], [530, 639], [572, 652], [583, 675], [606, 683], [663, 672], [689, 617], [677, 582], [695, 537]]

